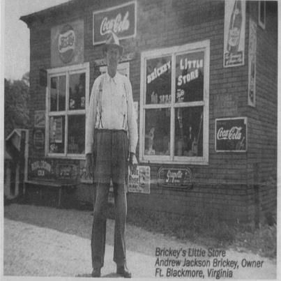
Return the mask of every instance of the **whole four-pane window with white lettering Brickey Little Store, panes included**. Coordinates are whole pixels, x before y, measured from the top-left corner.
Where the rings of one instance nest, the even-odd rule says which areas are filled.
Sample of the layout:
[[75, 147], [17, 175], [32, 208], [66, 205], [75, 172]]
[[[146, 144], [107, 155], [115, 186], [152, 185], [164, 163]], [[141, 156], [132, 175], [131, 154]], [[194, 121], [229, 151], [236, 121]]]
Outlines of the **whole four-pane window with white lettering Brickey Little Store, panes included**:
[[142, 53], [141, 161], [208, 162], [208, 68], [208, 40]]

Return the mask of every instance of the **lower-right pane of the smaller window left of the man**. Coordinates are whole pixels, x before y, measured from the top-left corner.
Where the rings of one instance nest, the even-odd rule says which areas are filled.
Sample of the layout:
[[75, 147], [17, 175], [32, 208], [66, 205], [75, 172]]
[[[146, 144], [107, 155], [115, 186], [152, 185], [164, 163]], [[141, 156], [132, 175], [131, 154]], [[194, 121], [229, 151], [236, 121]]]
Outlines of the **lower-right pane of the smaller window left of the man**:
[[68, 153], [84, 153], [85, 116], [68, 116]]

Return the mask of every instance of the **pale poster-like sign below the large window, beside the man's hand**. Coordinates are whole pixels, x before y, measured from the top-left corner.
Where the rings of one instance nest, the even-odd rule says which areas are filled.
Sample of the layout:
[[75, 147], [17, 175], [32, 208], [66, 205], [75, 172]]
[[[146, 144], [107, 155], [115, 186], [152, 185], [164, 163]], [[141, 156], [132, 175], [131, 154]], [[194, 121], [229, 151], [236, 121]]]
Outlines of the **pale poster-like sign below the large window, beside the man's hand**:
[[129, 173], [128, 191], [150, 193], [151, 174], [149, 166], [137, 166], [135, 174]]

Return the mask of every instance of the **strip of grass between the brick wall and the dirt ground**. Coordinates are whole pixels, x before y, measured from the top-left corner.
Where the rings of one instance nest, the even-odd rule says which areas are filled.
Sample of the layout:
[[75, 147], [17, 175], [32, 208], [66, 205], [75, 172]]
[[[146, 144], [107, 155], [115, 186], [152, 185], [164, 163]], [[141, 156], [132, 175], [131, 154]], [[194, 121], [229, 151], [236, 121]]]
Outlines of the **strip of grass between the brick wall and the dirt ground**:
[[[113, 206], [109, 207], [108, 216], [114, 218]], [[241, 252], [250, 250], [262, 257], [276, 258], [276, 224], [268, 225], [264, 222], [257, 229], [250, 224], [229, 225], [210, 213], [187, 216], [139, 208], [128, 210], [127, 223], [208, 248], [234, 248]]]

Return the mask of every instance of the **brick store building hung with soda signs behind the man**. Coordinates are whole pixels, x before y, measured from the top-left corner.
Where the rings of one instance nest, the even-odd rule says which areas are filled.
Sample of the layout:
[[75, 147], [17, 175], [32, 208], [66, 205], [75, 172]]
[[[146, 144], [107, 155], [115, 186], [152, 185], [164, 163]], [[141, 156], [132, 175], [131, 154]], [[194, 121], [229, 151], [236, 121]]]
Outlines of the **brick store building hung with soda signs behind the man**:
[[[20, 19], [30, 30], [26, 188], [93, 202], [85, 120], [121, 40], [139, 144], [128, 208], [257, 221], [277, 201], [277, 1], [71, 0]], [[71, 192], [64, 192], [70, 188]], [[62, 192], [61, 192], [62, 191]]]

